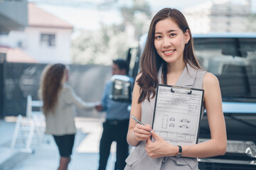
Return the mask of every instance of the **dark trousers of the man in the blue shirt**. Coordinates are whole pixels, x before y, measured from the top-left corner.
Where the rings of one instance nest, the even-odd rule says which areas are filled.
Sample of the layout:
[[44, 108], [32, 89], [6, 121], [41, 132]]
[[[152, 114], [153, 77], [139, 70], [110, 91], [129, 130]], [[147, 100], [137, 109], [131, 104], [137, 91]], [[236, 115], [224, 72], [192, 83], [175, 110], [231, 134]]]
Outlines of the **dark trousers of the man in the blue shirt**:
[[110, 156], [110, 147], [113, 141], [117, 142], [117, 161], [114, 169], [123, 170], [128, 157], [129, 145], [127, 131], [129, 120], [106, 120], [103, 123], [103, 132], [100, 140], [100, 165], [99, 170], [105, 170], [107, 159]]

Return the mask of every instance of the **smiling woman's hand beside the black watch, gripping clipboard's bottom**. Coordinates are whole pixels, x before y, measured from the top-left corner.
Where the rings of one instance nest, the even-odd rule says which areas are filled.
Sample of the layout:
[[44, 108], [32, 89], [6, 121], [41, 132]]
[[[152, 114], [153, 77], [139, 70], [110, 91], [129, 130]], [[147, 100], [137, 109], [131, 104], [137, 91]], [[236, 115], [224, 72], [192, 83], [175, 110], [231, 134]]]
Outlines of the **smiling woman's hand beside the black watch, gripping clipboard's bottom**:
[[171, 157], [175, 156], [178, 153], [178, 147], [169, 144], [162, 137], [156, 135], [156, 132], [152, 130], [152, 137], [156, 140], [152, 142], [150, 139], [146, 140], [146, 154], [149, 157], [155, 159], [159, 157]]

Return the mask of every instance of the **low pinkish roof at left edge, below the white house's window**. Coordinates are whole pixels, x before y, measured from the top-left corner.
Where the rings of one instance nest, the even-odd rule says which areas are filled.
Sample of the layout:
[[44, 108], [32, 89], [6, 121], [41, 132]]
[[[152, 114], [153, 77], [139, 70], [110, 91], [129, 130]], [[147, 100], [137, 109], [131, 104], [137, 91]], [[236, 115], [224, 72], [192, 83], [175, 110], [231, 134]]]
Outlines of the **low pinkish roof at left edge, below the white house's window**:
[[6, 53], [6, 62], [26, 62], [26, 63], [38, 63], [33, 57], [30, 57], [20, 48], [11, 48], [6, 46], [0, 46], [0, 52]]

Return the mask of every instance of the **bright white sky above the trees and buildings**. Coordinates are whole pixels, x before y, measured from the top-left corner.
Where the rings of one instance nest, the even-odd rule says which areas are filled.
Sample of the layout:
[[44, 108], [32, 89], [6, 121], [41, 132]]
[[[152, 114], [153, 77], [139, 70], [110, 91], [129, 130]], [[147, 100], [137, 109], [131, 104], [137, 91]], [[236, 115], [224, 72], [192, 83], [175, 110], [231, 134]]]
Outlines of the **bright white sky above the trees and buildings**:
[[[119, 13], [120, 6], [130, 6], [133, 0], [118, 0], [118, 3], [111, 7], [104, 7], [102, 1], [117, 0], [80, 0], [78, 4], [75, 1], [51, 0], [50, 3], [43, 0], [28, 0], [36, 3], [40, 8], [53, 13], [74, 26], [75, 30], [95, 30], [100, 28], [100, 23], [121, 23], [122, 17]], [[82, 5], [81, 5], [81, 1]], [[171, 7], [183, 10], [191, 6], [202, 4], [206, 0], [146, 0], [151, 6], [151, 11], [157, 12], [161, 8]], [[210, 0], [209, 0], [210, 1]], [[213, 0], [211, 0], [213, 1]], [[216, 1], [216, 0], [214, 0]], [[218, 1], [218, 0], [217, 0]], [[225, 0], [221, 0], [225, 1]], [[233, 0], [238, 1], [238, 0]], [[251, 0], [254, 11], [256, 11], [256, 0]], [[54, 3], [55, 2], [55, 3]], [[58, 4], [58, 5], [57, 5]], [[61, 5], [60, 5], [61, 4]], [[98, 6], [96, 7], [95, 4]], [[100, 7], [99, 7], [100, 6]]]

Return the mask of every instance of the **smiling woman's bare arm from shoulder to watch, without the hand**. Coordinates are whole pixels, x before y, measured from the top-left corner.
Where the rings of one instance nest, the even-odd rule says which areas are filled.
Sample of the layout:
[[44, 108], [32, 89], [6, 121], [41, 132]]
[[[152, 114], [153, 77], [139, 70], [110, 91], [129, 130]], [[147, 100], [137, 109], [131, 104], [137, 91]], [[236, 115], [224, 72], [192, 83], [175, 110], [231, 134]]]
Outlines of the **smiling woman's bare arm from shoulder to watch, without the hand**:
[[225, 154], [227, 147], [227, 135], [225, 130], [225, 118], [222, 109], [220, 85], [217, 77], [206, 73], [203, 79], [205, 90], [204, 102], [208, 124], [210, 127], [210, 140], [193, 146], [183, 146], [184, 157], [214, 157]]

